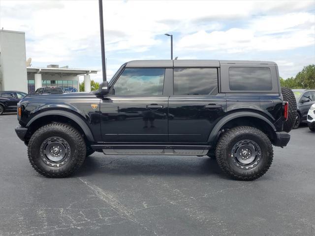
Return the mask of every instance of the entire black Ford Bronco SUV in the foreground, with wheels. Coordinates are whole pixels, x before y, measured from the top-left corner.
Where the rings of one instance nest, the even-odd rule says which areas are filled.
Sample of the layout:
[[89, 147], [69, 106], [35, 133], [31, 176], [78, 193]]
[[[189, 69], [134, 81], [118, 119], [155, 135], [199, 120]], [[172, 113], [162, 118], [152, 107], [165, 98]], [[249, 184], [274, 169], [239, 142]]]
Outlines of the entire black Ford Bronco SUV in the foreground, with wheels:
[[17, 135], [33, 168], [66, 177], [94, 151], [209, 155], [230, 177], [264, 175], [290, 140], [296, 102], [270, 61], [135, 60], [96, 92], [33, 95]]

